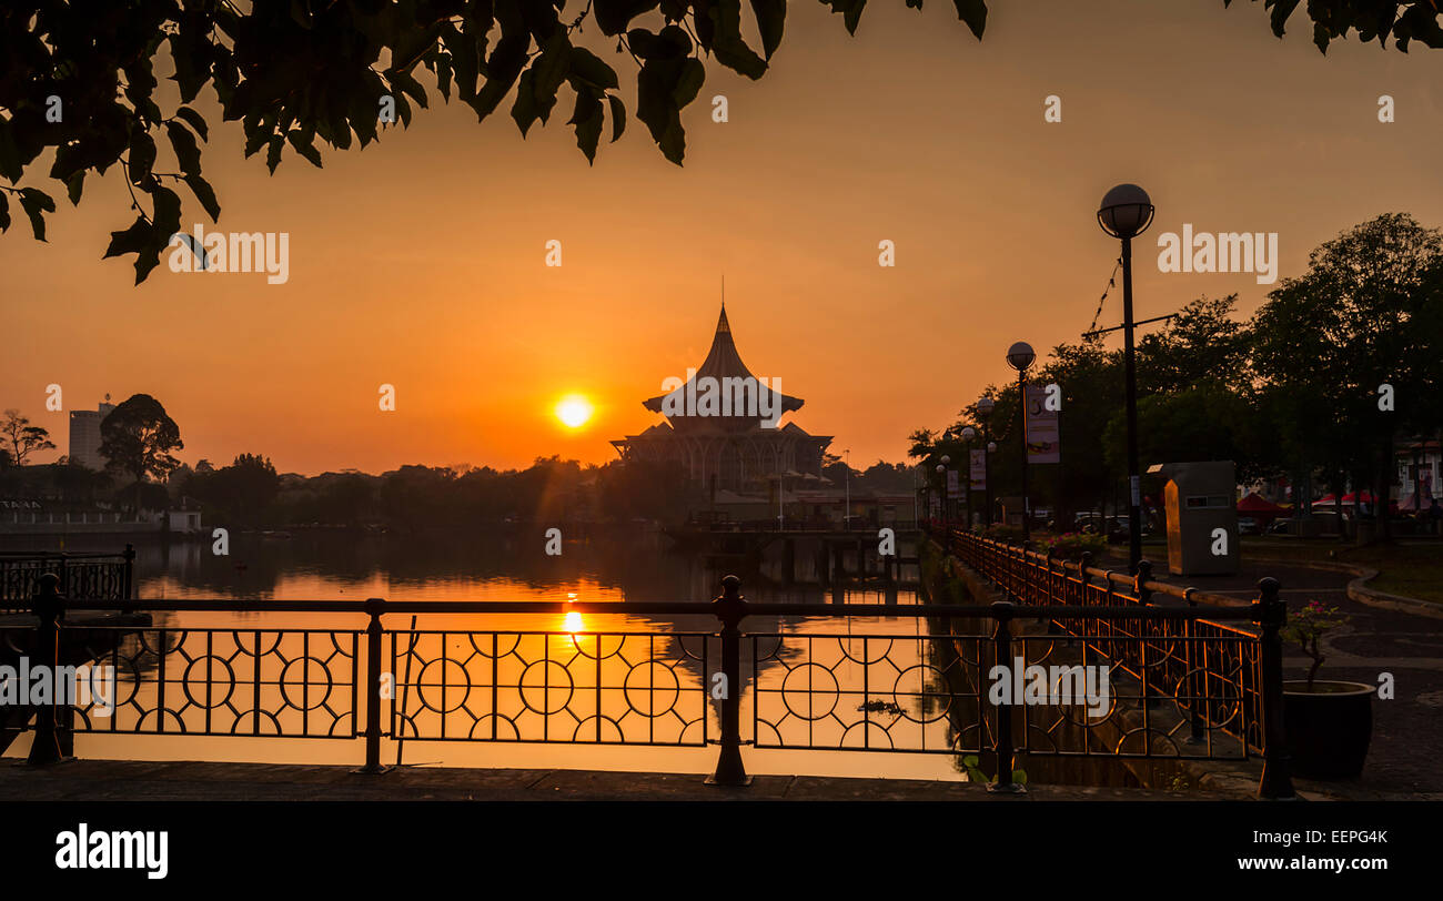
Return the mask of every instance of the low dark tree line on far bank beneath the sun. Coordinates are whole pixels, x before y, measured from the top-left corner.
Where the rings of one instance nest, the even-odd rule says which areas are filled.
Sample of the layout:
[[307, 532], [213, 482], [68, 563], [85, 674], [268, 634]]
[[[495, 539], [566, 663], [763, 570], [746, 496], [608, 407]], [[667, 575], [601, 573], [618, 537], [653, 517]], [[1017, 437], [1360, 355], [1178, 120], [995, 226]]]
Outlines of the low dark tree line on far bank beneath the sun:
[[[242, 453], [228, 466], [201, 460], [192, 469], [172, 453], [183, 447], [179, 425], [150, 395], [128, 398], [102, 421], [105, 470], [69, 460], [25, 466], [30, 451], [55, 445], [46, 430], [27, 425], [17, 411], [7, 414], [13, 414], [12, 431], [29, 435], [30, 445], [16, 457], [19, 466], [7, 466], [9, 457], [0, 460], [0, 492], [55, 497], [71, 507], [114, 503], [134, 512], [190, 502], [199, 505], [206, 523], [241, 529], [323, 525], [418, 531], [522, 522], [675, 523], [707, 503], [680, 466], [639, 460], [582, 464], [553, 456], [521, 470], [401, 466], [381, 474], [343, 470], [300, 476], [278, 473], [263, 454]], [[0, 428], [0, 438], [4, 434]], [[857, 471], [835, 456], [824, 463], [824, 474], [837, 487], [850, 471], [856, 497], [912, 490], [906, 464], [879, 460]]]

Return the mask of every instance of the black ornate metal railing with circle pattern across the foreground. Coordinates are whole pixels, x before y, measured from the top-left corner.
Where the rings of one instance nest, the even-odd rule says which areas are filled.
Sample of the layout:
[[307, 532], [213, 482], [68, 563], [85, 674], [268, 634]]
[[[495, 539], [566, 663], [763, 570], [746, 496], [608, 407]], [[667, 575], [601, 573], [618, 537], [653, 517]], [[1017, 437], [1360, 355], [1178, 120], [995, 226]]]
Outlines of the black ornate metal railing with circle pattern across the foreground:
[[[719, 760], [711, 780], [745, 784], [742, 747], [755, 744], [977, 753], [994, 761], [999, 786], [1007, 789], [1019, 753], [1117, 758], [1260, 753], [1267, 761], [1263, 794], [1291, 793], [1277, 757], [1280, 709], [1268, 693], [1281, 691], [1276, 591], [1214, 614], [1260, 623], [1261, 634], [1253, 634], [1218, 623], [1203, 629], [1199, 611], [1188, 607], [752, 605], [736, 577], [723, 581], [723, 594], [711, 604], [267, 601], [267, 611], [351, 617], [356, 627], [68, 626], [65, 598], [55, 587], [56, 577], [42, 580], [35, 600], [39, 626], [6, 629], [3, 650], [56, 666], [108, 662], [117, 673], [117, 696], [108, 716], [97, 715], [95, 704], [36, 708], [29, 727], [36, 731], [30, 751], [36, 764], [61, 758], [74, 732], [351, 738], [364, 744], [368, 771], [384, 770], [382, 740], [714, 744]], [[235, 601], [146, 601], [139, 607], [153, 616], [255, 610]], [[571, 631], [398, 623], [404, 614], [444, 614], [450, 626], [470, 614], [618, 611], [701, 616], [717, 627]], [[742, 629], [758, 616], [841, 623], [915, 617], [928, 630], [902, 636]], [[1039, 629], [1069, 623], [1084, 639], [1017, 634], [1023, 623]], [[996, 695], [994, 667], [1019, 662], [1023, 669], [1115, 662], [1137, 685], [1115, 682], [1101, 696], [1049, 696], [1040, 704]], [[1150, 706], [1165, 679], [1172, 679], [1173, 715]], [[1245, 691], [1258, 701], [1245, 702]], [[750, 735], [742, 728], [746, 695]], [[1192, 737], [1196, 721], [1202, 741], [1179, 738], [1185, 729]], [[1245, 740], [1229, 745], [1221, 738], [1234, 734]]]

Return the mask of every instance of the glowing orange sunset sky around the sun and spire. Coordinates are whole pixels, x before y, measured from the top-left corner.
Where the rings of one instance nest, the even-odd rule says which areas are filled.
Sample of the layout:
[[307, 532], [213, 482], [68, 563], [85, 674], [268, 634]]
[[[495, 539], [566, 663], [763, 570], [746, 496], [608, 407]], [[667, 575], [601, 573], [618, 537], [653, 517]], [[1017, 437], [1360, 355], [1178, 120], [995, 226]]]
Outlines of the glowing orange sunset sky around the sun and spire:
[[[1278, 232], [1283, 277], [1382, 212], [1443, 225], [1443, 53], [1349, 40], [1325, 58], [1302, 13], [1278, 42], [1248, 3], [993, 7], [978, 45], [945, 3], [869, 6], [856, 37], [821, 4], [794, 4], [760, 82], [709, 68], [683, 169], [633, 115], [587, 167], [566, 115], [522, 141], [504, 112], [478, 125], [437, 102], [364, 153], [323, 150], [323, 172], [287, 151], [270, 177], [264, 154], [241, 159], [240, 125], [212, 117], [205, 172], [224, 213], [205, 222], [289, 232], [283, 285], [173, 274], [162, 258], [131, 287], [130, 258], [100, 258], [131, 219], [118, 170], [89, 179], [79, 209], [33, 182], [61, 209], [46, 245], [23, 218], [0, 238], [0, 408], [51, 428], [61, 447], [35, 461], [66, 448], [65, 414], [45, 411], [55, 382], [72, 409], [154, 395], [192, 464], [242, 451], [300, 473], [600, 463], [610, 438], [657, 420], [641, 401], [701, 362], [724, 272], [746, 363], [805, 398], [792, 421], [860, 467], [902, 460], [909, 431], [1009, 378], [1013, 340], [1076, 340], [1115, 255], [1094, 219], [1114, 183], [1157, 205], [1137, 248], [1139, 317], [1231, 291], [1247, 313], [1268, 290], [1160, 274], [1156, 238], [1185, 222]], [[729, 123], [711, 123], [714, 94]], [[1049, 94], [1061, 124], [1043, 123]], [[1394, 124], [1377, 120], [1380, 94]], [[183, 221], [199, 221], [183, 197]], [[561, 268], [544, 265], [548, 239]], [[882, 239], [895, 268], [877, 265]], [[381, 383], [395, 412], [377, 408]], [[569, 392], [597, 405], [574, 434], [551, 415]]]

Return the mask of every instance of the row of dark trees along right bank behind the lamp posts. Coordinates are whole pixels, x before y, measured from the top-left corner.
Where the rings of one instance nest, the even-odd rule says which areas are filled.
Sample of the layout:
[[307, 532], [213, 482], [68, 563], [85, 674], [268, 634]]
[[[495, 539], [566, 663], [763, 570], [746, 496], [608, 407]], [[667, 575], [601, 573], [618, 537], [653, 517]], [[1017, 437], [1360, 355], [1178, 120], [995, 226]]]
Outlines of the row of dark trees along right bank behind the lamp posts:
[[[1385, 213], [1317, 247], [1250, 319], [1235, 317], [1237, 300], [1201, 297], [1137, 339], [1143, 471], [1232, 460], [1240, 483], [1286, 479], [1307, 502], [1322, 486], [1339, 497], [1364, 487], [1387, 510], [1398, 441], [1443, 428], [1443, 232]], [[1123, 366], [1123, 350], [1092, 336], [1058, 345], [1027, 373], [1062, 389], [1062, 463], [1029, 473], [1032, 506], [1051, 506], [1058, 523], [1107, 505], [1126, 512]], [[1017, 385], [981, 395], [996, 402], [993, 496], [1017, 494]], [[941, 431], [912, 432], [909, 456], [925, 471], [942, 454], [965, 466], [961, 431], [984, 427], [971, 404]], [[1388, 536], [1387, 516], [1381, 526]]]

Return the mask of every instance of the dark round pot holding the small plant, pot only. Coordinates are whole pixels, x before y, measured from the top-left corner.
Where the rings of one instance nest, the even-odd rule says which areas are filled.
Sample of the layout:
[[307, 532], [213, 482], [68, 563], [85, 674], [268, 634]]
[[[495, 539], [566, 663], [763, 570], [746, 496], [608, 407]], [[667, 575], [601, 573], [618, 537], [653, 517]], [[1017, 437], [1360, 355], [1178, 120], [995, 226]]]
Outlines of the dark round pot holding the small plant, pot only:
[[1372, 738], [1372, 696], [1362, 682], [1283, 682], [1283, 728], [1293, 774], [1352, 778], [1362, 773]]

